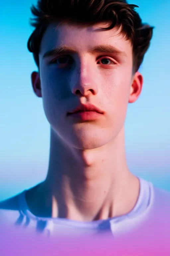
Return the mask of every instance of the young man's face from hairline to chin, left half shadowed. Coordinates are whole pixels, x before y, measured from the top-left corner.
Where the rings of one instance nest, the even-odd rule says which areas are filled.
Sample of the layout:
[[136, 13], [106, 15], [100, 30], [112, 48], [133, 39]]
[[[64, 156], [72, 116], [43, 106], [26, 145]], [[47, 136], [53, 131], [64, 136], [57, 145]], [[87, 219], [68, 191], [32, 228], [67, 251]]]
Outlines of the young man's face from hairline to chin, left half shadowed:
[[[135, 93], [131, 43], [115, 28], [99, 28], [105, 26], [62, 24], [56, 29], [57, 24], [51, 24], [41, 42], [40, 90], [45, 115], [53, 131], [79, 149], [98, 148], [113, 140], [124, 126], [130, 93]], [[102, 46], [108, 49], [104, 51]], [[58, 47], [60, 51], [49, 54]], [[70, 49], [63, 51], [62, 47]], [[38, 94], [35, 80], [32, 76]], [[137, 92], [133, 101], [139, 95], [138, 87]], [[70, 114], [88, 104], [100, 113]]]

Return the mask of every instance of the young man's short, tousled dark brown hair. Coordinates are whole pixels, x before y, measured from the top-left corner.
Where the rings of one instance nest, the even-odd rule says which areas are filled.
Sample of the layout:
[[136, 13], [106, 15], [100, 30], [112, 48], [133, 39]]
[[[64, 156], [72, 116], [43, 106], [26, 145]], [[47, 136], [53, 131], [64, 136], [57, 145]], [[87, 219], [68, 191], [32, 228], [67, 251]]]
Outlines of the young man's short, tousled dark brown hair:
[[153, 27], [142, 23], [135, 7], [138, 6], [128, 4], [126, 0], [38, 0], [37, 6], [31, 7], [34, 18], [30, 19], [30, 24], [35, 30], [28, 40], [28, 50], [33, 53], [39, 68], [42, 36], [51, 22], [70, 22], [85, 26], [109, 22], [105, 29], [121, 28], [125, 39], [131, 41], [133, 72], [136, 72], [149, 48]]

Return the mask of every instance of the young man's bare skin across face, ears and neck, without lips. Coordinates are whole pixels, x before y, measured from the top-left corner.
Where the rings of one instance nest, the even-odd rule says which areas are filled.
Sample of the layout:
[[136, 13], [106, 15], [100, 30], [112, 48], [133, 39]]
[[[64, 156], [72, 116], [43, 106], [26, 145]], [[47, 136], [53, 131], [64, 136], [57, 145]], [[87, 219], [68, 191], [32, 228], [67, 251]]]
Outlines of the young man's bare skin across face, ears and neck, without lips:
[[[43, 35], [40, 73], [33, 72], [31, 78], [51, 136], [47, 178], [26, 195], [35, 215], [106, 219], [128, 213], [137, 201], [139, 181], [128, 170], [124, 122], [143, 78], [132, 73], [131, 42], [117, 28], [99, 28], [106, 25], [53, 23]], [[92, 51], [97, 45], [111, 45], [122, 53]], [[74, 52], [43, 57], [60, 46]], [[80, 103], [93, 104], [103, 114], [86, 122], [68, 116]]]

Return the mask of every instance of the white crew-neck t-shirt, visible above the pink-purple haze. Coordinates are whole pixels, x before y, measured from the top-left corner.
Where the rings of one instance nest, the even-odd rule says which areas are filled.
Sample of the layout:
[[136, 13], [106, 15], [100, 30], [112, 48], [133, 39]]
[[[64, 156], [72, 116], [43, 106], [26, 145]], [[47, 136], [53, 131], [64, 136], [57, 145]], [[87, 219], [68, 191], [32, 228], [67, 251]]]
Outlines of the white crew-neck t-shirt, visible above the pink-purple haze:
[[0, 222], [32, 229], [45, 236], [69, 232], [84, 235], [107, 231], [117, 237], [135, 229], [150, 228], [153, 232], [156, 230], [160, 234], [169, 234], [170, 241], [170, 193], [155, 188], [152, 183], [143, 179], [139, 180], [140, 193], [135, 207], [120, 217], [92, 222], [37, 217], [30, 212], [24, 191], [0, 203]]

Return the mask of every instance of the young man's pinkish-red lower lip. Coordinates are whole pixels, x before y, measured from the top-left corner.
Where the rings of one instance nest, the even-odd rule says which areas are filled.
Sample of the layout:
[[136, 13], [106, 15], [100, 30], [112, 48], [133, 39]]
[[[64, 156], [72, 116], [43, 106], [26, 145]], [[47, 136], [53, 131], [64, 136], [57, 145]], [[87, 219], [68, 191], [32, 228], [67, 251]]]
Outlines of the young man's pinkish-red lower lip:
[[82, 111], [70, 114], [70, 116], [80, 119], [82, 121], [91, 121], [96, 120], [101, 117], [102, 114], [97, 113], [96, 111]]

